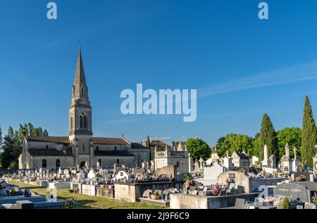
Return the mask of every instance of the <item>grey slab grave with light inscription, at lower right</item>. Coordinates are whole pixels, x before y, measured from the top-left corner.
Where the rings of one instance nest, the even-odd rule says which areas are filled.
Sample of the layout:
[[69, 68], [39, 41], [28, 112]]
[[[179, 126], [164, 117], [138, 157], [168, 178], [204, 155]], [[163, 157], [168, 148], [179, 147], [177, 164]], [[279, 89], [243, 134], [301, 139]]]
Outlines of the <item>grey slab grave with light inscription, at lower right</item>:
[[296, 183], [278, 184], [274, 189], [275, 196], [286, 196], [290, 200], [299, 200], [302, 202], [310, 202], [310, 191], [305, 186]]

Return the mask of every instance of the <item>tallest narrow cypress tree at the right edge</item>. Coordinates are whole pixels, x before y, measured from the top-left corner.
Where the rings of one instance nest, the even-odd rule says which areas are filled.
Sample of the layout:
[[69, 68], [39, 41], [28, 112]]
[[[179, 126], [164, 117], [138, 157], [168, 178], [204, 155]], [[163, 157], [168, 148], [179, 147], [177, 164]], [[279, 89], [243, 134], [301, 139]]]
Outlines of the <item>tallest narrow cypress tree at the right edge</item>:
[[306, 96], [304, 104], [304, 117], [302, 126], [302, 163], [306, 163], [309, 167], [313, 166], [313, 156], [316, 154], [317, 130], [316, 123], [313, 119], [313, 110], [309, 97]]

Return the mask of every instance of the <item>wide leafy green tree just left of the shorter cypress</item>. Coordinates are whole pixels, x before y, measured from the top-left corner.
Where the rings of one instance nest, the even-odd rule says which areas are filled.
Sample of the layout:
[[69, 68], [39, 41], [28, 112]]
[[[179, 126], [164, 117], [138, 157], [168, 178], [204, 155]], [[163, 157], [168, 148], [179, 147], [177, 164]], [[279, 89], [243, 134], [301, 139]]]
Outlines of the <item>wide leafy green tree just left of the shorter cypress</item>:
[[234, 151], [253, 152], [253, 141], [250, 136], [242, 134], [227, 134], [225, 137], [221, 137], [217, 142], [217, 152], [219, 156], [224, 156], [227, 151], [232, 154]]

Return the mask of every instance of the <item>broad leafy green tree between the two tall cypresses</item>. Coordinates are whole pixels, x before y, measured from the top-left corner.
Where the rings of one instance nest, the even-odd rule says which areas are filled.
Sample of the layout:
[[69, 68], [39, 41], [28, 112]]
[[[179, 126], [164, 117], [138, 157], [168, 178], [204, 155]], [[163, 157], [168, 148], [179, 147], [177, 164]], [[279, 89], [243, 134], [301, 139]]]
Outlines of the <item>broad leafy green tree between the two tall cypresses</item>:
[[285, 154], [285, 145], [290, 145], [290, 155], [294, 157], [294, 147], [297, 148], [297, 157], [300, 157], [302, 148], [302, 129], [297, 127], [285, 128], [276, 132], [278, 138], [278, 151], [280, 155]]

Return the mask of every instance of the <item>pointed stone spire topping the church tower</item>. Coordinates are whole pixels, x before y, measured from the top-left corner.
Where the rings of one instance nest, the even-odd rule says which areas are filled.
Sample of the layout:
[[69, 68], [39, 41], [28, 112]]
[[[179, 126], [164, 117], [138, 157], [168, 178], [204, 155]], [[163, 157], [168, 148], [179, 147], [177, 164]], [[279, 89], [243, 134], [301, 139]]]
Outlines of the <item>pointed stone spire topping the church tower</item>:
[[75, 81], [73, 85], [73, 97], [74, 98], [88, 98], [88, 88], [86, 85], [84, 64], [82, 63], [81, 46], [79, 46], [79, 53], [77, 58]]

